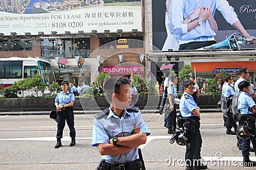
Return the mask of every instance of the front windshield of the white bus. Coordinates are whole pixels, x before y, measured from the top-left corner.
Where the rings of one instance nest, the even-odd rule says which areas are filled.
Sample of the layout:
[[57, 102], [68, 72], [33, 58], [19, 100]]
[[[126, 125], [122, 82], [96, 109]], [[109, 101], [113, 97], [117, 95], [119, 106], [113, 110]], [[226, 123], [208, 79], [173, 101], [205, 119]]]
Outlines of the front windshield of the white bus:
[[52, 72], [51, 64], [44, 61], [38, 61], [40, 73], [44, 80], [44, 83], [50, 85], [54, 82], [54, 74]]

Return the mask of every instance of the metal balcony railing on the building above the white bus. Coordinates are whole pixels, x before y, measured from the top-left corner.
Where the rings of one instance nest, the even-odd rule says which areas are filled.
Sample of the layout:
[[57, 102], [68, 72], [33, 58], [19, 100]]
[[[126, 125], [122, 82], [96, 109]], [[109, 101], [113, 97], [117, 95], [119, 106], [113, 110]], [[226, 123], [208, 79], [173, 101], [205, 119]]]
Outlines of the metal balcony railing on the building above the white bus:
[[90, 57], [90, 50], [43, 50], [42, 57], [54, 59], [55, 57], [65, 57], [67, 59], [80, 56], [84, 58]]

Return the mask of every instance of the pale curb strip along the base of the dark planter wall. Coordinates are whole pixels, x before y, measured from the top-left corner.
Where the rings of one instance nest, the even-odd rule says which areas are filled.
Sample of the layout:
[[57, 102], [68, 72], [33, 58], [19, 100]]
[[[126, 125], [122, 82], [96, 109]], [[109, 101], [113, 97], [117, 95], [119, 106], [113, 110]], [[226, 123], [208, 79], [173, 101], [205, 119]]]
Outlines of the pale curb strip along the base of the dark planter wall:
[[[177, 109], [177, 112], [180, 110]], [[0, 115], [49, 115], [51, 111], [10, 111], [10, 112], [0, 112]], [[75, 115], [79, 114], [96, 114], [99, 113], [100, 110], [86, 110], [86, 111], [74, 111]], [[201, 113], [204, 112], [221, 112], [219, 108], [212, 109], [201, 109]], [[141, 113], [159, 113], [159, 110], [141, 110]]]

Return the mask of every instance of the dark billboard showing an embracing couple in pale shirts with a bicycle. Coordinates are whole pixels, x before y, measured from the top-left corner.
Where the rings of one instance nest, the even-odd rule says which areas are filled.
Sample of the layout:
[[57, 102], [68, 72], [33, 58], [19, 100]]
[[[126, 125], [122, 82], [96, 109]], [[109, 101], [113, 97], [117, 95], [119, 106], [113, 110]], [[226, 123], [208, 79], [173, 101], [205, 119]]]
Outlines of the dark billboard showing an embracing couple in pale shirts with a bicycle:
[[[202, 23], [198, 20], [200, 10], [196, 10], [197, 8], [200, 8], [202, 13], [211, 14], [203, 18]], [[239, 21], [250, 36], [256, 36], [255, 0], [152, 0], [153, 45], [162, 51], [195, 50], [200, 46], [198, 41], [210, 41], [209, 44], [205, 43], [199, 48], [205, 45], [210, 46], [211, 49], [220, 47], [220, 45], [212, 46], [213, 43], [225, 39], [230, 41], [236, 37], [239, 41], [243, 37], [234, 34], [239, 33], [237, 30], [241, 28], [241, 25], [237, 25]], [[240, 31], [243, 33], [243, 29]], [[196, 47], [193, 48], [195, 44]], [[224, 45], [230, 48], [225, 42]], [[186, 48], [188, 46], [192, 46], [191, 49]], [[154, 50], [158, 50], [157, 48]], [[256, 45], [249, 46], [243, 41], [241, 48], [256, 48]]]

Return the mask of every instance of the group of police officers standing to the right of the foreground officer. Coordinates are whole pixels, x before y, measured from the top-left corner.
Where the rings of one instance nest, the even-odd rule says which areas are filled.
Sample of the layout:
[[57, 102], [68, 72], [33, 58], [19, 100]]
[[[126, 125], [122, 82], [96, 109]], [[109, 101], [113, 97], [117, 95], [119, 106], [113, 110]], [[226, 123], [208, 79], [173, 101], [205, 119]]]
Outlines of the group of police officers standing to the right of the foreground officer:
[[[177, 112], [173, 98], [177, 97], [177, 78], [170, 71], [165, 72], [164, 92], [167, 92], [167, 100], [164, 104], [164, 127], [168, 128], [168, 134], [175, 136], [177, 131]], [[239, 79], [234, 83], [231, 74], [226, 74], [225, 83], [222, 85], [222, 96], [225, 99], [225, 109], [223, 109], [224, 125], [227, 128], [227, 134], [237, 136], [237, 147], [242, 150], [243, 166], [256, 166], [256, 162], [249, 159], [249, 152], [256, 155], [255, 143], [255, 113], [256, 104], [253, 97], [253, 85], [248, 81], [250, 73], [246, 67], [241, 67], [238, 73]], [[206, 83], [205, 83], [206, 84]], [[187, 146], [185, 153], [186, 169], [207, 169], [207, 166], [200, 162], [200, 150], [202, 147], [202, 137], [200, 134], [200, 108], [196, 104], [196, 92], [198, 85], [195, 78], [184, 81], [182, 86], [184, 93], [180, 98], [179, 109], [181, 119], [184, 121], [183, 128], [188, 132], [188, 138], [191, 143]], [[237, 96], [237, 105], [232, 104], [233, 97]], [[221, 99], [223, 100], [223, 99]], [[221, 105], [222, 107], [222, 105]], [[232, 107], [239, 110], [239, 119], [234, 120]], [[176, 130], [175, 130], [176, 129]], [[232, 130], [234, 129], [234, 131]], [[246, 134], [247, 132], [247, 134]], [[245, 136], [244, 136], [245, 134]], [[252, 142], [253, 148], [250, 143]]]

